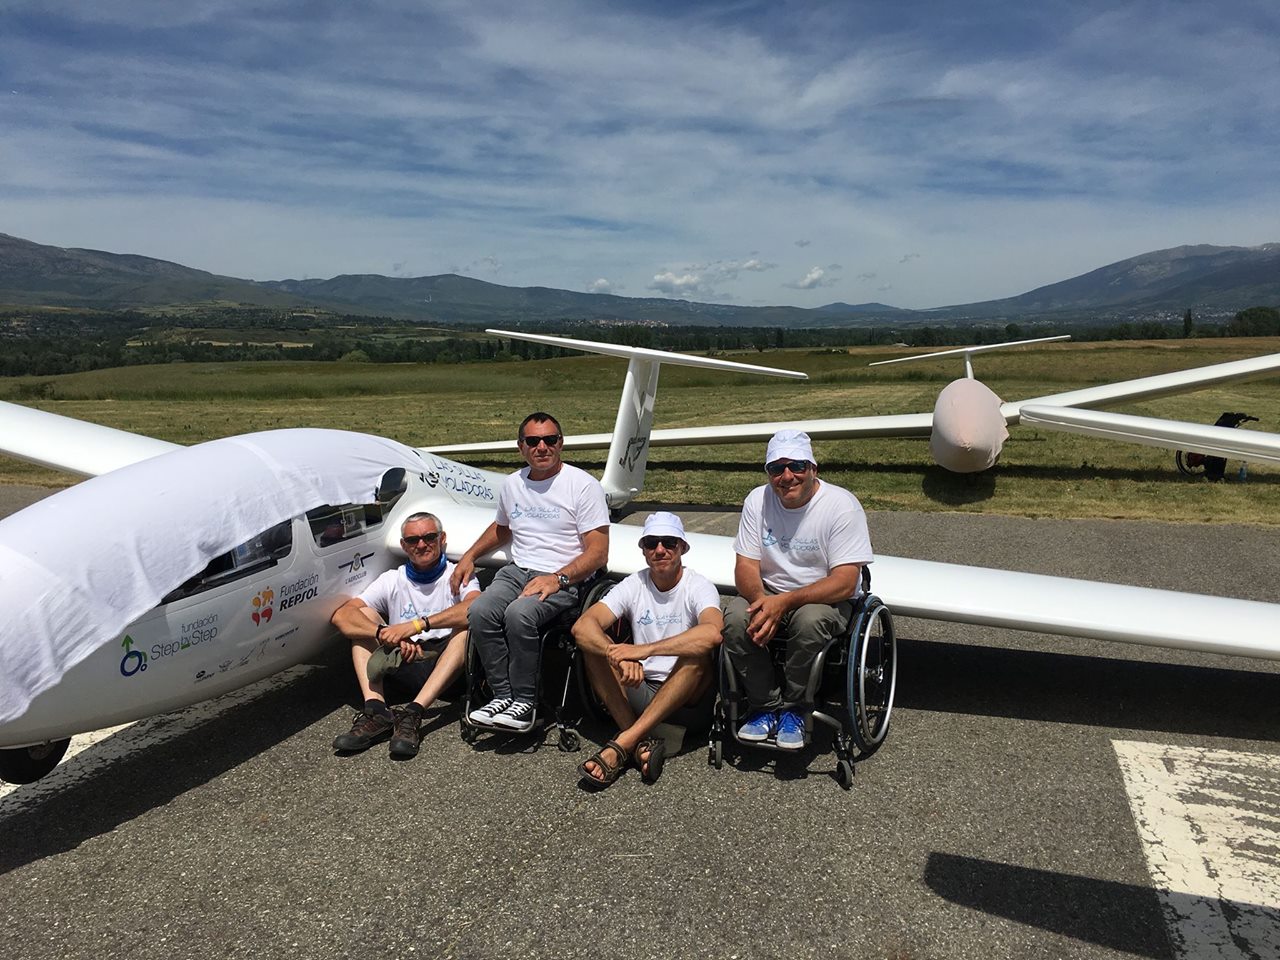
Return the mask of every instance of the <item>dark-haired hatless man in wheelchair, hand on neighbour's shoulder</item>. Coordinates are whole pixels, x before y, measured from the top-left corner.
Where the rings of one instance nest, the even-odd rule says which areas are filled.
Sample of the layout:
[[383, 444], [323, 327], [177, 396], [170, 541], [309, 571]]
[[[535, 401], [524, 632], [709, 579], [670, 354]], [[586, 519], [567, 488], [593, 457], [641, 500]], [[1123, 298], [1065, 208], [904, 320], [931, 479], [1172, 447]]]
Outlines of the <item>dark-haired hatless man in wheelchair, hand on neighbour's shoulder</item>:
[[471, 607], [471, 637], [493, 700], [468, 719], [486, 727], [534, 726], [538, 659], [547, 625], [579, 600], [579, 584], [609, 557], [609, 508], [600, 481], [564, 463], [564, 435], [550, 413], [530, 413], [516, 434], [526, 467], [498, 493], [494, 522], [458, 559], [461, 584], [476, 561], [507, 547], [511, 563]]

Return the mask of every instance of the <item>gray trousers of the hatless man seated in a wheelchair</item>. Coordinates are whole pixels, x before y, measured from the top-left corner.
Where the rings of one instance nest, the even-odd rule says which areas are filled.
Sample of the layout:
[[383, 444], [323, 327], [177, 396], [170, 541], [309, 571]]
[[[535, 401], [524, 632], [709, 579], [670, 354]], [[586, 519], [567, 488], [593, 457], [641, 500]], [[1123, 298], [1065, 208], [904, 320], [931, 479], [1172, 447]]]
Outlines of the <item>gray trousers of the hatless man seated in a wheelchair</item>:
[[520, 595], [525, 584], [544, 572], [508, 563], [467, 609], [471, 643], [494, 696], [534, 701], [543, 632], [577, 605], [577, 585], [561, 588], [545, 600]]

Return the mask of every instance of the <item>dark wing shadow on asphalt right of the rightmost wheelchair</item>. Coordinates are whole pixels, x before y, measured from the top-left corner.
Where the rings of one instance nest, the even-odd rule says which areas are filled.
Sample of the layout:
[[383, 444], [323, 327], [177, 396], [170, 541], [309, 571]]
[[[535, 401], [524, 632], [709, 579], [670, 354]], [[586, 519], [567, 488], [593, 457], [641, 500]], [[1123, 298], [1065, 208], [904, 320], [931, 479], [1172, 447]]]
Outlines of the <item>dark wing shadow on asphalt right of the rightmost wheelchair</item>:
[[1280, 675], [899, 639], [900, 708], [1280, 741]]

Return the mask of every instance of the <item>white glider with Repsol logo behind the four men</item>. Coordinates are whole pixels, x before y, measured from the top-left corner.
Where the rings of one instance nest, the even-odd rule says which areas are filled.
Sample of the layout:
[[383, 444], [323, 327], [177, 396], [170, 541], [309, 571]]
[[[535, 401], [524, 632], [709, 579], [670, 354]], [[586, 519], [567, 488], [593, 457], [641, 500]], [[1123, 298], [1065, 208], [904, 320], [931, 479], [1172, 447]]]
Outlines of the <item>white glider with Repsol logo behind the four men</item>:
[[[657, 364], [673, 361], [591, 346], [636, 364], [618, 415], [630, 447], [614, 451], [643, 453]], [[436, 513], [462, 548], [492, 522], [502, 481], [361, 434], [278, 430], [175, 448], [12, 403], [0, 403], [0, 452], [93, 475], [0, 520], [0, 778], [20, 781], [51, 769], [74, 733], [314, 655], [334, 641], [333, 611], [401, 562], [406, 516]], [[620, 466], [634, 495], [643, 458]], [[612, 526], [609, 576], [640, 566], [636, 535]], [[699, 572], [731, 591], [732, 540], [690, 541]], [[873, 570], [876, 593], [902, 616], [1280, 659], [1280, 603], [883, 556]]]

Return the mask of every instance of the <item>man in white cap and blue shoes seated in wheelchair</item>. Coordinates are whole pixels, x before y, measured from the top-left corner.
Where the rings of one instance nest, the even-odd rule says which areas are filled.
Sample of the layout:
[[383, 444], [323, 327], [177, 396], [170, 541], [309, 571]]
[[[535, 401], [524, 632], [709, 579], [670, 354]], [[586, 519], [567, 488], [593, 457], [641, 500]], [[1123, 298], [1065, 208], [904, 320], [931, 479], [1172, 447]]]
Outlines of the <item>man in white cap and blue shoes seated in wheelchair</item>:
[[[742, 680], [739, 740], [805, 744], [809, 671], [849, 630], [863, 566], [874, 559], [867, 515], [849, 490], [818, 479], [809, 435], [778, 430], [764, 457], [769, 481], [748, 494], [733, 552], [739, 595], [724, 608], [724, 653]], [[782, 684], [768, 646], [787, 645]]]

